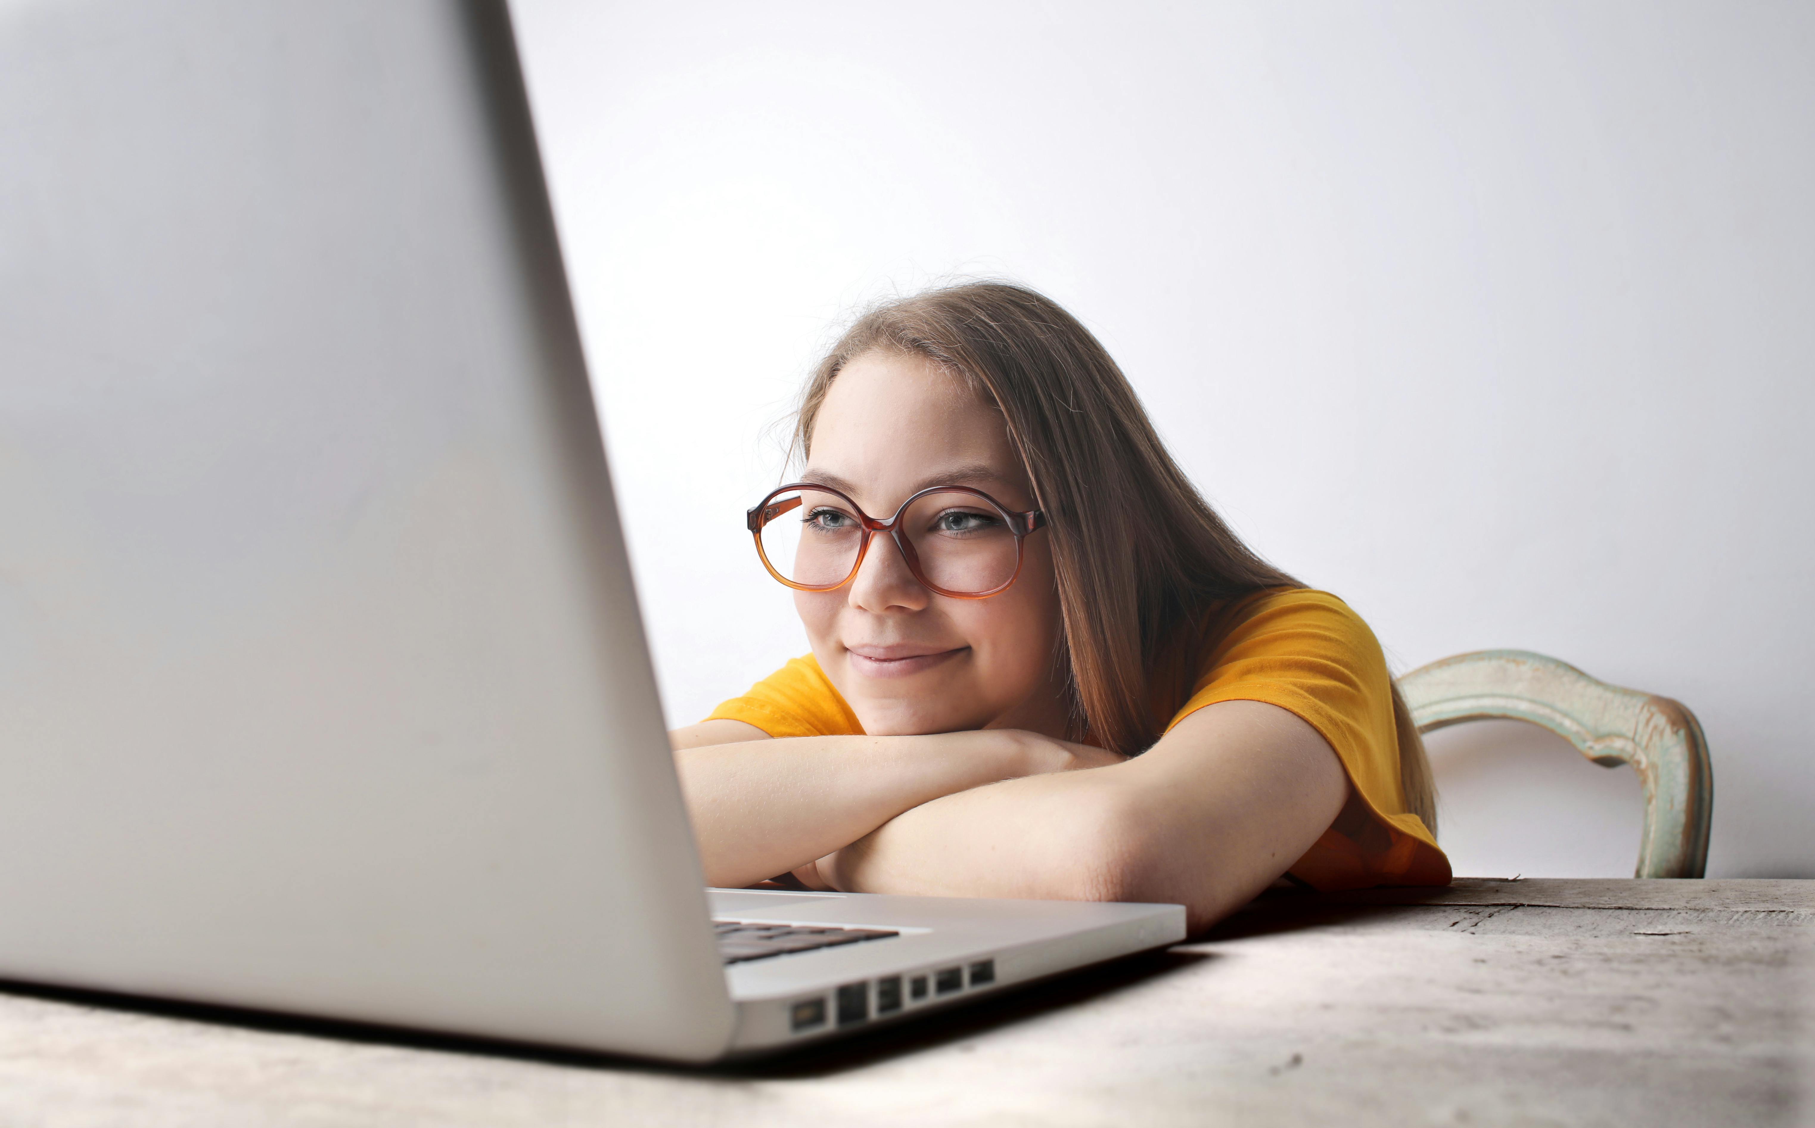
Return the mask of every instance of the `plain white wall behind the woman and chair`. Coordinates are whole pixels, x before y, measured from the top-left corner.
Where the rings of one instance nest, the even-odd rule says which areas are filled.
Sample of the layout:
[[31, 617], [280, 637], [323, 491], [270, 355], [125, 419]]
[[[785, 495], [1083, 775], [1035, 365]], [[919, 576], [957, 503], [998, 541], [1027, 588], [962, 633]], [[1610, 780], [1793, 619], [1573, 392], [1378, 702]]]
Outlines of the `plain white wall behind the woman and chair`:
[[[806, 648], [742, 510], [835, 322], [1007, 276], [1401, 670], [1679, 698], [1710, 876], [1815, 876], [1815, 5], [515, 11], [673, 723]], [[1630, 770], [1432, 745], [1459, 872], [1630, 874]]]

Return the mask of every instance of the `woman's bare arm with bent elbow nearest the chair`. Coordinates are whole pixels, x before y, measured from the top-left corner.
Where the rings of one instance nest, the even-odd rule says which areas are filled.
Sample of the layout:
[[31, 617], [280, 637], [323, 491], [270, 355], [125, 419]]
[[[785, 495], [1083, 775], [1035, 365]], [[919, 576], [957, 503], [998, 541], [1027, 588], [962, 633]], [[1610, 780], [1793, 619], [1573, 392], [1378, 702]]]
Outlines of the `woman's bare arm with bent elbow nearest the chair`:
[[1136, 759], [944, 796], [817, 868], [842, 890], [1167, 901], [1198, 932], [1298, 861], [1347, 796], [1316, 728], [1223, 701]]

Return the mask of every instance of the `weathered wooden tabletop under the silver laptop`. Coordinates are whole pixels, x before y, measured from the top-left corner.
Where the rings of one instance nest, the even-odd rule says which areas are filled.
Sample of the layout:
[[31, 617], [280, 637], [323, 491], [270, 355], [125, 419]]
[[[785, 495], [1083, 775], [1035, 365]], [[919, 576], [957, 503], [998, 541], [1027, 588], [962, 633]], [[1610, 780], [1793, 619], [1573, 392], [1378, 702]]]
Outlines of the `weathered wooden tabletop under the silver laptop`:
[[0, 1124], [1808, 1124], [1811, 966], [1815, 881], [1292, 895], [706, 1072], [11, 988]]

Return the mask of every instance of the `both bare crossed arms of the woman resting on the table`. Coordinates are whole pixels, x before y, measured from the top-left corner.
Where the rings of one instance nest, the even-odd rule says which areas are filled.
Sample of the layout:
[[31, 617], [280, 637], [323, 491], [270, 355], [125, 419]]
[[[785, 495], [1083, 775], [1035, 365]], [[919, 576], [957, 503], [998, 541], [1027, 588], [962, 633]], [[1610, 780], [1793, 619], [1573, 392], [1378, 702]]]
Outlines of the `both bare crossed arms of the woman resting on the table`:
[[1194, 932], [1278, 879], [1349, 797], [1318, 730], [1260, 701], [1200, 708], [1134, 759], [993, 728], [672, 736], [713, 885], [791, 870], [849, 892], [1169, 901]]

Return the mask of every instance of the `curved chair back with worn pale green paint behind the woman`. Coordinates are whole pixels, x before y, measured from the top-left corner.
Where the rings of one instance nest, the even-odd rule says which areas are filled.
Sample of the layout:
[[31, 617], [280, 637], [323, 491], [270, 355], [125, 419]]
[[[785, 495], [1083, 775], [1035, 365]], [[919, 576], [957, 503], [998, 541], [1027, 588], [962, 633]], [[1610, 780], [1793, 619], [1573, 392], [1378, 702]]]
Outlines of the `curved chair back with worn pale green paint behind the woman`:
[[1476, 650], [1399, 679], [1419, 732], [1463, 721], [1539, 725], [1604, 768], [1630, 763], [1644, 787], [1634, 877], [1701, 877], [1708, 866], [1713, 770], [1708, 737], [1679, 701], [1595, 681], [1528, 650]]

